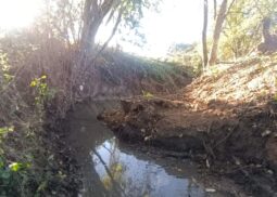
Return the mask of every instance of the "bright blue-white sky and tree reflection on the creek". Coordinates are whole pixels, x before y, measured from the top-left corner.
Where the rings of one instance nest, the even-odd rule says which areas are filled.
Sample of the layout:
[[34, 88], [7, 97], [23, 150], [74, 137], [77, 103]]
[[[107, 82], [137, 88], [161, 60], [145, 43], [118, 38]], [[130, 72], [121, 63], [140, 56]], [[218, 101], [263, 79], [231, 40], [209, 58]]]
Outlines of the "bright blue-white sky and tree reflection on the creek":
[[115, 137], [91, 152], [95, 169], [115, 196], [205, 196], [190, 179], [169, 175], [161, 166], [125, 154]]

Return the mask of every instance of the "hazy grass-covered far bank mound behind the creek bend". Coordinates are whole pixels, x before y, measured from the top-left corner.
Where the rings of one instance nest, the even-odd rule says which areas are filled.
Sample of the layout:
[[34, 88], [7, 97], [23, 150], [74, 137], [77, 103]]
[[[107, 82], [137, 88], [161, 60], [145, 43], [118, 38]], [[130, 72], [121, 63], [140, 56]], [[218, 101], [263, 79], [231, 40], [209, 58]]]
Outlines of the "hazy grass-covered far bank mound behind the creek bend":
[[76, 90], [80, 100], [122, 98], [142, 92], [173, 93], [191, 82], [191, 77], [177, 65], [106, 51], [83, 76]]

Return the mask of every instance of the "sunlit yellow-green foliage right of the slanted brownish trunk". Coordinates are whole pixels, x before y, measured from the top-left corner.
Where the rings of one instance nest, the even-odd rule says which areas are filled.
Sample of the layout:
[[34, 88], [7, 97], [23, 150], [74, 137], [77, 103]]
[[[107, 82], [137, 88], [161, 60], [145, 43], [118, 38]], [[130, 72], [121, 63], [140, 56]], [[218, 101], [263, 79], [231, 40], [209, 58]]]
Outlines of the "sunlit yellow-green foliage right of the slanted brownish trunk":
[[219, 42], [221, 60], [237, 60], [255, 51], [262, 41], [263, 18], [274, 18], [276, 12], [275, 0], [236, 1], [227, 15]]

